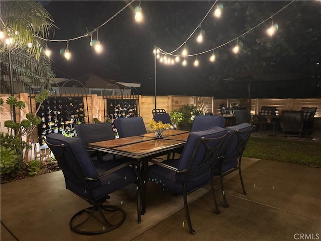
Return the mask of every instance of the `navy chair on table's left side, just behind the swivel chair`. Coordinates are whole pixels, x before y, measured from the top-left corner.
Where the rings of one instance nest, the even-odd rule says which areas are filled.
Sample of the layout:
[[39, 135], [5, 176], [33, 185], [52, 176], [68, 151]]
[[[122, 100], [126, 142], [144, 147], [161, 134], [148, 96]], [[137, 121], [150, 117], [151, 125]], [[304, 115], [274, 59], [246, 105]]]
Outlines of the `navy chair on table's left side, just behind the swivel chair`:
[[[77, 136], [84, 142], [84, 144], [92, 142], [100, 142], [106, 140], [115, 139], [115, 134], [110, 123], [97, 123], [97, 124], [80, 124], [76, 125]], [[114, 159], [115, 155], [106, 154], [99, 151], [87, 149], [88, 154], [93, 160], [99, 162], [105, 160]]]

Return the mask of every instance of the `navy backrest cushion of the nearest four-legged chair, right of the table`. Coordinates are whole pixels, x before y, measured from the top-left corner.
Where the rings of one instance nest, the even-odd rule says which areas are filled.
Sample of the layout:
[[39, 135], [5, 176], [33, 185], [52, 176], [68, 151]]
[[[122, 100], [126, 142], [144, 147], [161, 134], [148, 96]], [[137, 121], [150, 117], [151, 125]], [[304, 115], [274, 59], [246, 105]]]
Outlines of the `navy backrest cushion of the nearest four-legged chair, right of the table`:
[[[206, 130], [202, 131], [196, 131], [191, 132], [188, 136], [187, 142], [185, 144], [183, 153], [181, 155], [178, 169], [184, 170], [184, 169], [190, 169], [190, 172], [193, 172], [196, 168], [198, 168], [202, 161], [204, 160], [206, 156], [206, 147], [205, 145], [199, 145], [199, 142], [201, 141], [202, 137], [205, 137], [207, 139], [209, 138], [219, 138], [224, 136], [227, 133], [227, 131], [224, 128], [221, 127], [212, 127]], [[221, 143], [221, 141], [217, 141], [216, 143], [212, 143], [212, 146], [218, 145]], [[195, 149], [198, 147], [197, 152], [195, 153], [194, 159], [193, 153]], [[190, 167], [190, 163], [193, 161], [192, 166]], [[206, 168], [206, 167], [204, 167]], [[201, 171], [201, 170], [200, 170]], [[210, 169], [209, 169], [210, 172]], [[184, 182], [185, 175], [182, 175], [180, 173], [176, 174], [176, 179], [178, 181]]]

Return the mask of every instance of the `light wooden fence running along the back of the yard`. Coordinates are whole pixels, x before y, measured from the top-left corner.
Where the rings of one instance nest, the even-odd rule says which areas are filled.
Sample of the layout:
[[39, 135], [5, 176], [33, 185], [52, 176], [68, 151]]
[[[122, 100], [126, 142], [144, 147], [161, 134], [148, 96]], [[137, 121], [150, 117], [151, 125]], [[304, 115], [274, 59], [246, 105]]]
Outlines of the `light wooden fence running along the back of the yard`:
[[[6, 99], [9, 95], [2, 94], [1, 97], [5, 100], [4, 106], [1, 106], [1, 131], [7, 132], [7, 128], [4, 126], [4, 122], [11, 119], [10, 106], [6, 104]], [[15, 95], [18, 100], [26, 102], [26, 108], [19, 113], [16, 109], [16, 119], [26, 118], [28, 112], [36, 111], [35, 96], [29, 95], [28, 93], [20, 93]], [[86, 98], [86, 99], [85, 99]], [[104, 107], [104, 101], [106, 96], [97, 96], [95, 94], [88, 94], [84, 96], [84, 109], [86, 115], [86, 122], [92, 123], [93, 118], [98, 118], [103, 121], [108, 116]], [[151, 129], [148, 126], [149, 119], [152, 118], [152, 109], [155, 106], [154, 96], [138, 95], [138, 114], [143, 118], [146, 129], [148, 132]], [[179, 95], [168, 95], [168, 96], [157, 96], [156, 107], [164, 108], [167, 112], [171, 112], [173, 109], [178, 109], [182, 105], [195, 104], [199, 109], [203, 110], [204, 113], [213, 113], [215, 115], [221, 115], [220, 105], [224, 104], [230, 106], [230, 104], [237, 103], [239, 99], [215, 99], [214, 97], [206, 96], [179, 96]], [[262, 106], [276, 106], [276, 110], [281, 112], [282, 110], [300, 110], [302, 106], [317, 107], [314, 115], [315, 122], [314, 128], [321, 128], [321, 98], [299, 98], [299, 99], [251, 99], [251, 113], [258, 114]], [[88, 109], [88, 110], [87, 110]], [[88, 117], [87, 117], [88, 116]], [[38, 130], [35, 129], [34, 137], [31, 138], [31, 143], [36, 144], [38, 142]], [[40, 152], [35, 151], [36, 153]]]

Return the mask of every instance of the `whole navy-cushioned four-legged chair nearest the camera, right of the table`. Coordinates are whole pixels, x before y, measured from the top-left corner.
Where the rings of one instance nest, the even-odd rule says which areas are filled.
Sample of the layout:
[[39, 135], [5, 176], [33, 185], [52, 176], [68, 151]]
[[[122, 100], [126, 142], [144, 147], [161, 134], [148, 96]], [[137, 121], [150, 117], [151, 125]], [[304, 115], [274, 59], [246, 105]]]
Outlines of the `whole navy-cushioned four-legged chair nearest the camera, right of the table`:
[[[187, 195], [212, 180], [212, 162], [217, 158], [227, 131], [220, 127], [191, 132], [180, 159], [171, 159], [164, 162], [148, 160], [154, 165], [148, 166], [145, 179], [155, 182], [166, 190], [183, 195], [185, 215], [189, 231], [195, 232], [187, 203]], [[211, 185], [216, 213], [217, 206], [214, 185]], [[144, 208], [143, 208], [144, 210]]]

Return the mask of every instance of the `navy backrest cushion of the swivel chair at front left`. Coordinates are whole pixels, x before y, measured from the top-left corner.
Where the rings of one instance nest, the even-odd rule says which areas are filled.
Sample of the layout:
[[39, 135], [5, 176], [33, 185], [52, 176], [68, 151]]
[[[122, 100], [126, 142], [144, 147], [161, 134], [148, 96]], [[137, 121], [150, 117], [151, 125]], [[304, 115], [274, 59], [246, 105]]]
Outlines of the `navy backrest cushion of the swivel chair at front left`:
[[[69, 152], [65, 151], [63, 161], [64, 165], [68, 165], [68, 169], [72, 172], [78, 179], [84, 180], [85, 177], [96, 177], [97, 171], [96, 168], [91, 161], [91, 158], [88, 155], [86, 147], [83, 141], [78, 137], [65, 137], [61, 134], [52, 133], [47, 136], [47, 142], [53, 145], [61, 145], [64, 144]], [[61, 155], [63, 148], [51, 148], [51, 151], [54, 155]], [[77, 163], [75, 163], [77, 162]], [[81, 171], [79, 170], [81, 168]], [[99, 184], [99, 181], [98, 181]]]

